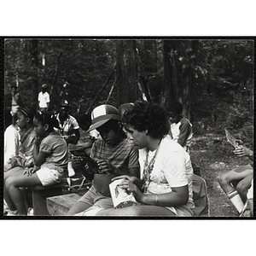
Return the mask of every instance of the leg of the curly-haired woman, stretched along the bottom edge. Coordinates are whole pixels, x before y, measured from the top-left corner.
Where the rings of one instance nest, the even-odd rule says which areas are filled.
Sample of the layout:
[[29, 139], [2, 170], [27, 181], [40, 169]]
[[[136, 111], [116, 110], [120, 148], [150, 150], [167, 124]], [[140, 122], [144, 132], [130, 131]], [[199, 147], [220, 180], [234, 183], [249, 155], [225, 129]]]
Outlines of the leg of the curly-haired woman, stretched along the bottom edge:
[[173, 212], [166, 207], [157, 206], [136, 206], [125, 207], [119, 209], [106, 209], [96, 213], [96, 216], [143, 216], [143, 217], [159, 217], [159, 216], [175, 216]]

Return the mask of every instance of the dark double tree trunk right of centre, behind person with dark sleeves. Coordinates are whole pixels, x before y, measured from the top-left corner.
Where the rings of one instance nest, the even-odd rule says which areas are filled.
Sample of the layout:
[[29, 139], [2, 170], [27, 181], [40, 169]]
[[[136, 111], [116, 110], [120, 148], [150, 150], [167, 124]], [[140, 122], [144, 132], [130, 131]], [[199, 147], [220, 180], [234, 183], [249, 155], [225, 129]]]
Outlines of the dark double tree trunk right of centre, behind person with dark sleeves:
[[166, 108], [172, 101], [181, 102], [183, 114], [188, 118], [195, 84], [198, 45], [198, 40], [164, 40]]

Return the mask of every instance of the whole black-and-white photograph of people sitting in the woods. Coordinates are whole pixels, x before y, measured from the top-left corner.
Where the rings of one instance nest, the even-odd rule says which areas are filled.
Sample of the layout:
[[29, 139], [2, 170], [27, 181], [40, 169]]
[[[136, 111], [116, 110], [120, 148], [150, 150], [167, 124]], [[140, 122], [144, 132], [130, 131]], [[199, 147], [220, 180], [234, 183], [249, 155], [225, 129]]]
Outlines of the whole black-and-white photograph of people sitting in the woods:
[[254, 38], [3, 44], [3, 218], [253, 218]]

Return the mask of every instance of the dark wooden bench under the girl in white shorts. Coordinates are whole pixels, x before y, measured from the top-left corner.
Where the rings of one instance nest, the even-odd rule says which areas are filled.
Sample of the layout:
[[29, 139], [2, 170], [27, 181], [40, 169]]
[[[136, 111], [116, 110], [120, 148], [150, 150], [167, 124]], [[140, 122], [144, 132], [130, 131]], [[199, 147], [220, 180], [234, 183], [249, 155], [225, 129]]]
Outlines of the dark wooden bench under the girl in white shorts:
[[32, 206], [34, 216], [49, 216], [46, 198], [62, 194], [63, 182], [51, 186], [35, 186], [32, 188]]

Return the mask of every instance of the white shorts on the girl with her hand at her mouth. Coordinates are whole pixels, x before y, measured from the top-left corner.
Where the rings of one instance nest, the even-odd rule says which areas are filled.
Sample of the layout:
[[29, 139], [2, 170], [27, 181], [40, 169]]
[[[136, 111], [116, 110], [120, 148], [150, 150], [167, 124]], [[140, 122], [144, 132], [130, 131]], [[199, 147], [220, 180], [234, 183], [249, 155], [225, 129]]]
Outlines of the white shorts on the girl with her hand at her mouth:
[[61, 173], [47, 167], [41, 168], [36, 173], [38, 174], [38, 178], [43, 186], [50, 186], [55, 183], [61, 183], [61, 177], [63, 176], [63, 172]]

